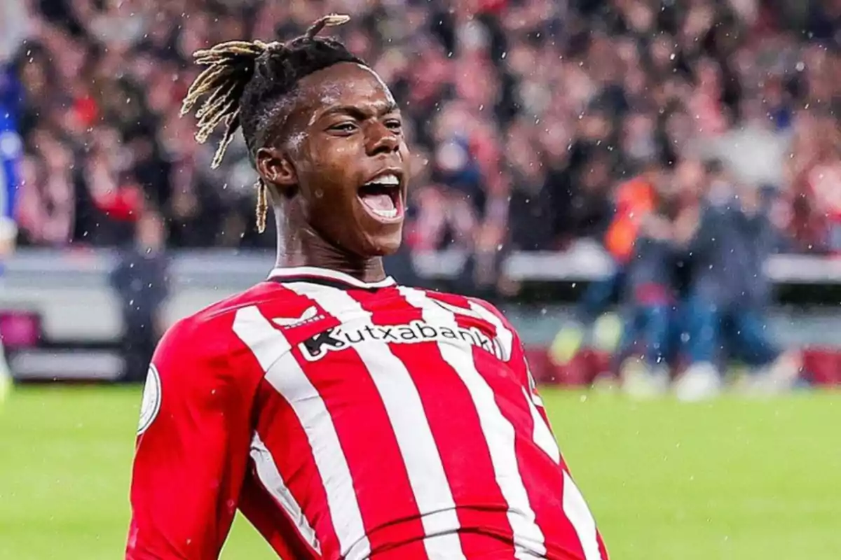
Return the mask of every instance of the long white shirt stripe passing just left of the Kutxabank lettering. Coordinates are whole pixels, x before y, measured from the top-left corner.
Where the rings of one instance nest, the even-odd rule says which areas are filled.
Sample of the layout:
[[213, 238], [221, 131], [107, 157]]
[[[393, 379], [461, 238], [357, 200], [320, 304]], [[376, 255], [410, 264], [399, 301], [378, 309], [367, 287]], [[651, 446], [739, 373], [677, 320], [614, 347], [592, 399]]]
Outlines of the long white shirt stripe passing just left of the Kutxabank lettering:
[[351, 471], [324, 400], [289, 352], [286, 338], [272, 327], [257, 307], [236, 312], [234, 332], [251, 348], [266, 371], [266, 380], [288, 401], [304, 427], [315, 466], [324, 483], [341, 556], [348, 560], [368, 557], [371, 547], [362, 525]]

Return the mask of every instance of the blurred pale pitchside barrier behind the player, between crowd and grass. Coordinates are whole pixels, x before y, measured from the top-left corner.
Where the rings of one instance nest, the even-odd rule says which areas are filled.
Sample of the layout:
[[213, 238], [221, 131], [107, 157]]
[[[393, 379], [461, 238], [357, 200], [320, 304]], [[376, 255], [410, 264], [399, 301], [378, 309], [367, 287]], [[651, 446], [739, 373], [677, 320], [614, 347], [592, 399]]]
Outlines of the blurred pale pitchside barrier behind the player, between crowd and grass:
[[[271, 268], [267, 252], [225, 249], [177, 252], [172, 255], [171, 297], [165, 321], [174, 322], [213, 301], [262, 280]], [[13, 369], [26, 379], [116, 379], [123, 369], [117, 344], [123, 332], [119, 298], [109, 274], [119, 262], [111, 250], [24, 249], [8, 262], [0, 285], [0, 329], [13, 341]], [[441, 283], [462, 273], [468, 255], [457, 250], [412, 255], [391, 264], [389, 274], [421, 283]], [[394, 267], [397, 267], [396, 269]], [[517, 253], [505, 257], [503, 273], [523, 285], [574, 284], [611, 272], [611, 260], [597, 243], [584, 240], [563, 253]], [[766, 263], [766, 274], [777, 285], [841, 286], [841, 259], [780, 254]], [[837, 302], [838, 300], [834, 300]], [[567, 302], [570, 303], [569, 301]], [[505, 309], [505, 304], [502, 304]], [[570, 317], [569, 305], [509, 302], [512, 322], [521, 330], [535, 366], [546, 381], [584, 382], [603, 368], [604, 356], [583, 354], [580, 364], [548, 364], [537, 356]], [[817, 352], [811, 360], [818, 381], [831, 381], [841, 371], [841, 312], [836, 305], [770, 310], [770, 328], [781, 342]], [[34, 337], [33, 332], [38, 336]], [[841, 354], [839, 354], [841, 355]], [[589, 357], [588, 357], [589, 356]], [[576, 373], [578, 372], [578, 373]], [[584, 373], [582, 373], [584, 372]]]

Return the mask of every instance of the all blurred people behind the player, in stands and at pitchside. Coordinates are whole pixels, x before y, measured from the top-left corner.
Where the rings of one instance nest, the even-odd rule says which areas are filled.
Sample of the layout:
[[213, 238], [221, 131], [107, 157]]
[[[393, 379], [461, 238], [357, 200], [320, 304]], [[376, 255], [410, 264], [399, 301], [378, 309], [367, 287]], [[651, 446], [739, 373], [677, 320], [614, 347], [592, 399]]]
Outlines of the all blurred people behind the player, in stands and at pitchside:
[[256, 233], [242, 139], [211, 170], [215, 142], [179, 117], [191, 54], [330, 12], [352, 14], [336, 34], [405, 115], [409, 254], [463, 249], [468, 283], [500, 290], [507, 251], [595, 239], [615, 273], [553, 359], [618, 301], [614, 365], [635, 395], [673, 379], [681, 398], [713, 395], [732, 358], [759, 389], [793, 383], [763, 263], [841, 251], [841, 0], [7, 0], [0, 163], [19, 164], [18, 241], [130, 249], [112, 275], [127, 353], [163, 328], [165, 248], [275, 239]]

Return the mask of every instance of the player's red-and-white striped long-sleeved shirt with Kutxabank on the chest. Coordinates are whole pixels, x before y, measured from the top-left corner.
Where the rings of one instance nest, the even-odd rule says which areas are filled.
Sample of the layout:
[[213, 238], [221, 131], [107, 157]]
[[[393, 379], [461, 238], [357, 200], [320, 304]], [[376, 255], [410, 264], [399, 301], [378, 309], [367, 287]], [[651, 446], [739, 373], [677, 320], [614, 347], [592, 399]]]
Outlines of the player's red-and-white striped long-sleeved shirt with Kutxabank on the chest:
[[499, 311], [309, 267], [167, 333], [131, 503], [131, 560], [607, 558]]

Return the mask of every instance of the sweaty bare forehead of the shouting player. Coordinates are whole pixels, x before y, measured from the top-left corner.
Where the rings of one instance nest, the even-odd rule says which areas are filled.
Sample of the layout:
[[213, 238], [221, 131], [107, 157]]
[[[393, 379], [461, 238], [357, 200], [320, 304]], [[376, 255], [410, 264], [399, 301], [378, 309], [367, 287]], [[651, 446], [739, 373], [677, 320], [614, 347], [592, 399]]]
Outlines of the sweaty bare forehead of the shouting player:
[[[394, 105], [389, 87], [370, 68], [352, 62], [341, 62], [305, 76], [298, 82], [295, 113], [318, 118], [336, 106], [377, 110]], [[303, 115], [301, 115], [303, 116]]]

